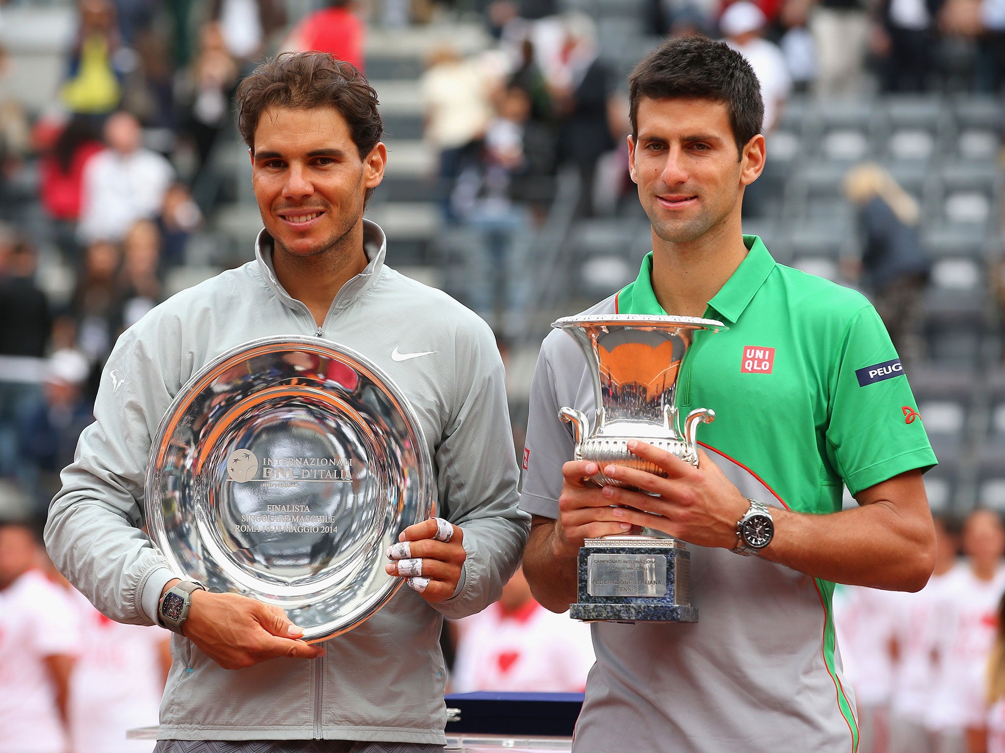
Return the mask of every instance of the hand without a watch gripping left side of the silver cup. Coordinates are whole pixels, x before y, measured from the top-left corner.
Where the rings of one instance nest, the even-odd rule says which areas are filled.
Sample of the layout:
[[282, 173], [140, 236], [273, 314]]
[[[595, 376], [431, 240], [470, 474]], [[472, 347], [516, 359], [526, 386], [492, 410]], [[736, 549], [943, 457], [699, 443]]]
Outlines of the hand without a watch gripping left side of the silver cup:
[[599, 470], [596, 463], [577, 460], [562, 466], [559, 517], [552, 537], [553, 551], [558, 557], [574, 559], [585, 539], [631, 532], [631, 525], [614, 516], [611, 501], [600, 487], [586, 481]]

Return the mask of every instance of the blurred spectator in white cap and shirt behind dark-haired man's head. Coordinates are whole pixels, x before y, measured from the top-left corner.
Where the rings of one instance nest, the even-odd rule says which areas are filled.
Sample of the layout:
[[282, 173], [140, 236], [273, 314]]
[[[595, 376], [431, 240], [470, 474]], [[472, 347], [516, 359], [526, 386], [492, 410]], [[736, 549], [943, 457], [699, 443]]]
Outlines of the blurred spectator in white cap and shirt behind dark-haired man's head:
[[768, 136], [775, 130], [785, 100], [792, 91], [792, 78], [782, 50], [762, 36], [766, 23], [767, 19], [759, 7], [747, 0], [739, 0], [726, 9], [720, 29], [726, 36], [726, 43], [747, 58], [761, 82], [761, 97], [764, 99], [761, 133]]

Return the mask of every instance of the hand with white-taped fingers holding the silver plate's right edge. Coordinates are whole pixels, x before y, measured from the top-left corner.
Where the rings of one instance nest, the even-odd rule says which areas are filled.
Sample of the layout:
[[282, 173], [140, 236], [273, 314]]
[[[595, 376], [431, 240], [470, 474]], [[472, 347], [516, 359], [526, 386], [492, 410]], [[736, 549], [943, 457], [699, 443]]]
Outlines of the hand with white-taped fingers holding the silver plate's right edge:
[[408, 578], [408, 585], [431, 603], [450, 598], [467, 558], [464, 531], [443, 518], [429, 518], [398, 539], [387, 552], [395, 560], [385, 566], [387, 573]]

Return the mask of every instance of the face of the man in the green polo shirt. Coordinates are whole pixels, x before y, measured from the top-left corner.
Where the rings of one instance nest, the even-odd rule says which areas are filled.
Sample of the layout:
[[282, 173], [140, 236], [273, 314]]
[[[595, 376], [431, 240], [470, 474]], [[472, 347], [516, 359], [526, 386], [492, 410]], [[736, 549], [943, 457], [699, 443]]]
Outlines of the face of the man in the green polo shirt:
[[739, 219], [743, 188], [764, 167], [763, 137], [738, 159], [726, 104], [708, 99], [643, 97], [637, 122], [628, 166], [660, 239], [689, 243]]

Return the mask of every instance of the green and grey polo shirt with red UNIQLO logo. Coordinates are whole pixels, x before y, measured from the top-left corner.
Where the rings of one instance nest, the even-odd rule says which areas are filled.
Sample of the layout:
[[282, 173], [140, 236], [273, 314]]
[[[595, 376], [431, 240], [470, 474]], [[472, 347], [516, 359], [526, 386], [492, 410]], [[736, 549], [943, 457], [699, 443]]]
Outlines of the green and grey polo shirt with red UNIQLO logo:
[[[935, 455], [896, 351], [859, 293], [747, 257], [709, 302], [728, 330], [699, 331], [681, 365], [682, 414], [716, 411], [698, 440], [744, 496], [806, 513]], [[638, 279], [584, 315], [663, 314], [652, 256]], [[566, 332], [545, 339], [531, 387], [521, 507], [559, 517], [562, 466], [575, 455], [564, 407], [595, 417], [592, 378]], [[597, 667], [577, 723], [577, 751], [853, 753], [853, 704], [837, 662], [833, 583], [760, 557], [688, 545], [692, 625], [593, 624]], [[668, 743], [667, 741], [672, 741]]]

